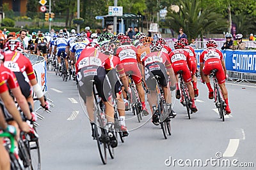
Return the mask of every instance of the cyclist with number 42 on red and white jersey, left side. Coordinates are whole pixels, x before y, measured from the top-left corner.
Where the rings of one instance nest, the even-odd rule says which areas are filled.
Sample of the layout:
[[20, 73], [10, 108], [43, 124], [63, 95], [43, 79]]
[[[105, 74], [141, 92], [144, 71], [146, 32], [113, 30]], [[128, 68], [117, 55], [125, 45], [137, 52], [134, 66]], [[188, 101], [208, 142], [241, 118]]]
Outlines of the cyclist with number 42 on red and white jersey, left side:
[[17, 77], [22, 94], [31, 104], [32, 109], [34, 110], [33, 96], [31, 95], [31, 87], [23, 75], [24, 72], [26, 72], [29, 82], [33, 87], [33, 91], [35, 92], [36, 97], [38, 97], [38, 99], [40, 100], [42, 108], [48, 110], [49, 103], [47, 103], [47, 101], [44, 100], [44, 93], [42, 92], [40, 85], [38, 85], [36, 81], [36, 76], [32, 64], [30, 60], [21, 53], [23, 49], [20, 41], [8, 41], [6, 43], [5, 50], [6, 51], [4, 52], [4, 66], [12, 70], [15, 76]]

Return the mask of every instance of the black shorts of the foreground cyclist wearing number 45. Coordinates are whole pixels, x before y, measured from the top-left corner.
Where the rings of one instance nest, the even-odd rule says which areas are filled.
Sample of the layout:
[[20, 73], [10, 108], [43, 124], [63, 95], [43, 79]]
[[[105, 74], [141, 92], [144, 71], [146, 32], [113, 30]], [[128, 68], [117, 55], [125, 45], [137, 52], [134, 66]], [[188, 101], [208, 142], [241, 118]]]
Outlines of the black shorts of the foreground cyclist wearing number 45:
[[[93, 84], [96, 85], [97, 92], [103, 101], [108, 101], [111, 95], [111, 87], [106, 77], [106, 71], [99, 66], [83, 67], [77, 74], [78, 90], [80, 96], [86, 103], [86, 96], [92, 96]], [[94, 82], [92, 82], [94, 80]]]

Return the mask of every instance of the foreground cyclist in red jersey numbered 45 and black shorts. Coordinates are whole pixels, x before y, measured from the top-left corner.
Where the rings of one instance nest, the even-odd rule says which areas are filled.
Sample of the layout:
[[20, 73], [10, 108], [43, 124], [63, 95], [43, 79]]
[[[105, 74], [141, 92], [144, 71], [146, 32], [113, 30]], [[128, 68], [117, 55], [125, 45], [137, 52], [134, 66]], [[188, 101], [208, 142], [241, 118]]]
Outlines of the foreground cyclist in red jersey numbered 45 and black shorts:
[[83, 98], [84, 104], [86, 105], [86, 110], [92, 126], [93, 138], [95, 138], [93, 134], [95, 124], [93, 122], [94, 97], [92, 80], [96, 81], [95, 85], [97, 92], [106, 106], [105, 113], [108, 121], [107, 126], [109, 128], [109, 139], [111, 146], [115, 148], [117, 146], [117, 140], [114, 133], [114, 108], [112, 105], [111, 86], [104, 69], [104, 66], [106, 66], [106, 62], [104, 61], [106, 60], [108, 60], [108, 55], [101, 53], [98, 47], [95, 48], [89, 44], [81, 52], [81, 55], [76, 62], [76, 74], [79, 94]]

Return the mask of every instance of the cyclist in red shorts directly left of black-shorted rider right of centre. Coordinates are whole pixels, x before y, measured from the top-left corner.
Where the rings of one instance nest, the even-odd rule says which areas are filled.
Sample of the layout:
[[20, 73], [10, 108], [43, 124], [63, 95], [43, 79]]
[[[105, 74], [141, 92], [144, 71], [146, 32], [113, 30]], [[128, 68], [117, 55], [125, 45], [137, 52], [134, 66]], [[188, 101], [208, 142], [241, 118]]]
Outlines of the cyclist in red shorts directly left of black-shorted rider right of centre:
[[[120, 58], [125, 70], [125, 74], [132, 73], [132, 80], [136, 84], [136, 89], [140, 97], [143, 115], [147, 116], [148, 111], [145, 105], [145, 92], [141, 84], [141, 72], [138, 67], [137, 55], [138, 50], [134, 45], [131, 45], [131, 39], [124, 37], [120, 40], [121, 46], [116, 50], [116, 56]], [[126, 97], [124, 95], [124, 97]]]

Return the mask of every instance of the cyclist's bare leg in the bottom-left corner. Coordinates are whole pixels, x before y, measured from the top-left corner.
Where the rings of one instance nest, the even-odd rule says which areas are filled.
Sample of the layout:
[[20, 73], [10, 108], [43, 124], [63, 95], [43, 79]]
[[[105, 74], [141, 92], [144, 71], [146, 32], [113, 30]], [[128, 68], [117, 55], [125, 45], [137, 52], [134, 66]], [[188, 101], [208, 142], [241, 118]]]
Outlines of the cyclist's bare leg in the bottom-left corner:
[[3, 146], [3, 138], [0, 138], [0, 170], [10, 169], [10, 157]]

